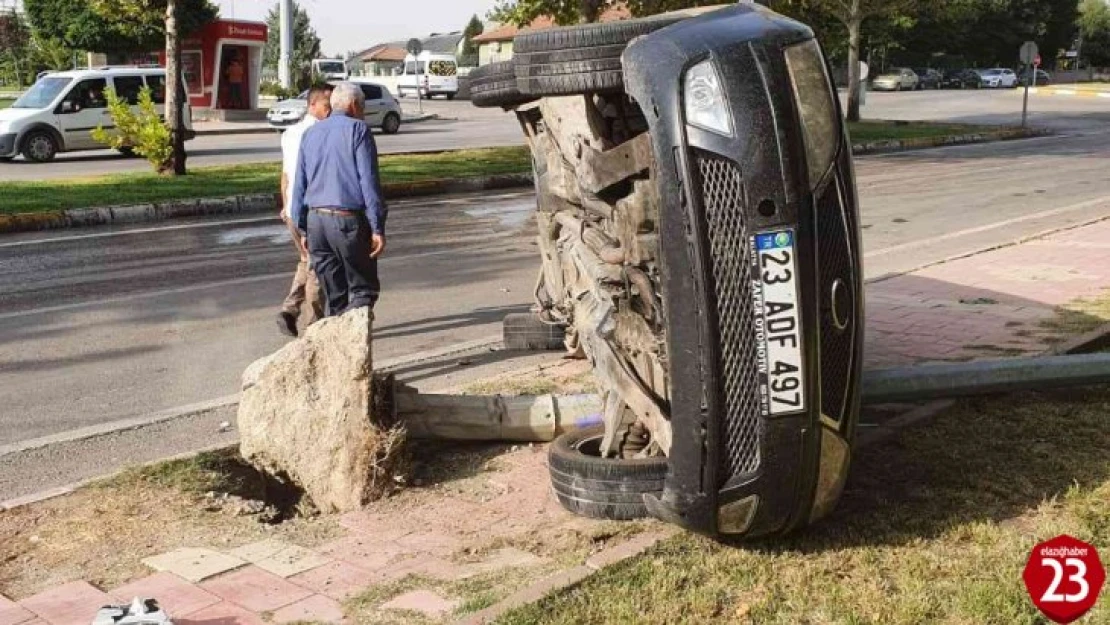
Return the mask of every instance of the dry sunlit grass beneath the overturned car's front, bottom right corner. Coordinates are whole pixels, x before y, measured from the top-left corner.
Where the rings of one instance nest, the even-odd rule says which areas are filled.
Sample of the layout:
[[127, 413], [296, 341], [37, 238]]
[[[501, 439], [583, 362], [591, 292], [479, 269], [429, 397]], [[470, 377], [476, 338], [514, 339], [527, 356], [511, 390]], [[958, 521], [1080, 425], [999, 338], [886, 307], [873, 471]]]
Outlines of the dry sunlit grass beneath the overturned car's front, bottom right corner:
[[[498, 623], [1045, 623], [1021, 581], [1032, 546], [1110, 545], [1108, 414], [1108, 387], [962, 402], [860, 451], [817, 526], [677, 536]], [[1110, 602], [1084, 622], [1110, 623]]]

